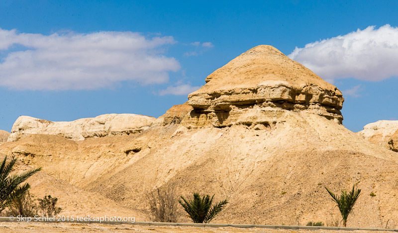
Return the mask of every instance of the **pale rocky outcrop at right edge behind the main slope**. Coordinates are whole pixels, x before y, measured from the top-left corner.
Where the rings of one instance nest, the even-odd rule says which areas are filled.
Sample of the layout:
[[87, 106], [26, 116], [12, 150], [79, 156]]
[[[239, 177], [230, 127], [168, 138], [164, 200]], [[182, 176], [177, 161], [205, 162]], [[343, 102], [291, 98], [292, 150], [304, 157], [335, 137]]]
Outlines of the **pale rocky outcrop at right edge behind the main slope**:
[[358, 132], [368, 141], [398, 152], [398, 120], [379, 120]]

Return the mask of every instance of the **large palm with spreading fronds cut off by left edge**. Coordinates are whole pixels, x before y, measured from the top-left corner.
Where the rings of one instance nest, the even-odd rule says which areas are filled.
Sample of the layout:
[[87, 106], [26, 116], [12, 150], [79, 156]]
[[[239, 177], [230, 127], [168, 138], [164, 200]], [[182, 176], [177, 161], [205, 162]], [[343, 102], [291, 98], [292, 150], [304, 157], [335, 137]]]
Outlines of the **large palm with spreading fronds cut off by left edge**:
[[30, 189], [30, 185], [25, 183], [30, 176], [40, 171], [41, 168], [36, 168], [20, 174], [10, 175], [12, 167], [16, 163], [17, 158], [13, 157], [7, 163], [7, 156], [1, 161], [0, 165], [0, 212], [12, 205], [16, 200], [24, 196]]

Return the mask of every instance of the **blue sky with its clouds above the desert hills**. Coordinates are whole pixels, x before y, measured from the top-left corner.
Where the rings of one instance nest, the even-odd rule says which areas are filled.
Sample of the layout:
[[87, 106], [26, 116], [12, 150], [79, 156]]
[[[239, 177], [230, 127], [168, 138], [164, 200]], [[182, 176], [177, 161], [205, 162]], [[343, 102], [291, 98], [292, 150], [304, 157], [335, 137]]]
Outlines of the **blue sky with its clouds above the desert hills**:
[[343, 124], [358, 131], [398, 119], [397, 11], [383, 0], [2, 0], [0, 129], [21, 115], [158, 117], [269, 44], [343, 91]]

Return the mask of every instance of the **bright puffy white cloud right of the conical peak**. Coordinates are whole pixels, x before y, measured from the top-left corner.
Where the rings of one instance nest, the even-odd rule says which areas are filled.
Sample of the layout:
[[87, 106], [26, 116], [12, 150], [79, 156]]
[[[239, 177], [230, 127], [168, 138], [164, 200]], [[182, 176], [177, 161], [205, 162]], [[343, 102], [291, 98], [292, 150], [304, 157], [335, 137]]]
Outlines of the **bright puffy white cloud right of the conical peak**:
[[289, 55], [324, 79], [398, 76], [398, 27], [386, 24], [306, 44]]

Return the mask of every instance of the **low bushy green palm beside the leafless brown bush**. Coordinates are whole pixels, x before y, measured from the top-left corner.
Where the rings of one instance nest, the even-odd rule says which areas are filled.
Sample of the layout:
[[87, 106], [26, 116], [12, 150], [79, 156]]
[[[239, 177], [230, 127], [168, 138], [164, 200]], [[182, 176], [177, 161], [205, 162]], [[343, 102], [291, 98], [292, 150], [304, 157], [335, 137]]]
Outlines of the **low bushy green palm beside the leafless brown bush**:
[[218, 202], [211, 206], [214, 195], [210, 198], [209, 195], [204, 195], [200, 198], [199, 193], [194, 193], [194, 199], [187, 201], [183, 196], [178, 201], [188, 216], [194, 223], [209, 223], [214, 219], [226, 206], [228, 199]]

